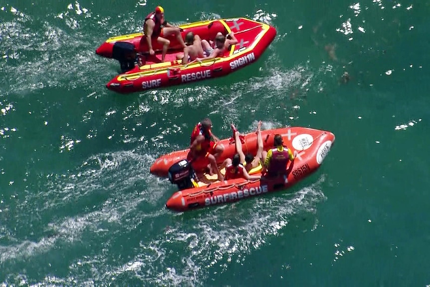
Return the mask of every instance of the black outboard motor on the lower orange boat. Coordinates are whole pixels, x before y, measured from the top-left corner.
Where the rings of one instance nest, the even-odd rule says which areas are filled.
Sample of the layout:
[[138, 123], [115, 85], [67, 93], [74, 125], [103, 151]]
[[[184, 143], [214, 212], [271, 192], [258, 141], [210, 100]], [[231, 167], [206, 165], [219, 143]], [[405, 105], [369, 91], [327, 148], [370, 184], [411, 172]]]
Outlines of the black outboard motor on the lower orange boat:
[[176, 184], [179, 190], [195, 187], [197, 176], [191, 162], [184, 159], [172, 165], [169, 168], [169, 181]]

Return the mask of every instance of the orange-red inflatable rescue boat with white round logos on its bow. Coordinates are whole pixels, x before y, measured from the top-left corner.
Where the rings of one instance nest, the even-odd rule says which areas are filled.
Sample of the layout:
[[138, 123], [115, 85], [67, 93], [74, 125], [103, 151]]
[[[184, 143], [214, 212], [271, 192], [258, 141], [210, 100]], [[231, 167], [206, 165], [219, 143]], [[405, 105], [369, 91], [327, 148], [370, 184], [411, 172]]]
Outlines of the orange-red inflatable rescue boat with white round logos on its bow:
[[[264, 178], [249, 181], [246, 179], [217, 180], [216, 175], [203, 173], [208, 162], [190, 163], [186, 160], [189, 149], [175, 151], [158, 158], [151, 166], [151, 173], [160, 177], [168, 177], [176, 184], [179, 191], [167, 201], [166, 207], [174, 211], [187, 211], [206, 206], [231, 203], [245, 198], [255, 197], [269, 192], [286, 189], [316, 171], [327, 156], [334, 143], [333, 133], [323, 130], [289, 127], [261, 131], [264, 150], [273, 148], [275, 134], [282, 135], [284, 145], [297, 156], [293, 166], [286, 167], [290, 172], [283, 177]], [[244, 135], [242, 150], [253, 155], [257, 152], [257, 135]], [[224, 147], [224, 152], [217, 159], [221, 164], [226, 158], [232, 158], [236, 153], [234, 139], [223, 139], [217, 142]], [[249, 172], [261, 174], [261, 165]], [[291, 169], [290, 169], [291, 168]], [[197, 173], [201, 173], [199, 177]], [[221, 170], [225, 173], [225, 169]]]

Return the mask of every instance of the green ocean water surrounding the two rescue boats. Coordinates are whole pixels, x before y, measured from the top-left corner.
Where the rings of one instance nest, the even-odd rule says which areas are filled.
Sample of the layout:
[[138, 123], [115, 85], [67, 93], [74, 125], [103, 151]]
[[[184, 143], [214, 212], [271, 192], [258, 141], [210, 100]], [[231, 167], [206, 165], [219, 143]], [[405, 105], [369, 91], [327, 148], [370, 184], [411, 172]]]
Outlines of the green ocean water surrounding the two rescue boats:
[[[277, 29], [227, 77], [120, 95], [106, 38], [245, 16]], [[429, 286], [426, 1], [0, 0], [1, 286]], [[348, 82], [342, 74], [350, 75]], [[290, 190], [172, 213], [149, 174], [210, 116], [336, 142]], [[427, 152], [426, 152], [427, 150]]]

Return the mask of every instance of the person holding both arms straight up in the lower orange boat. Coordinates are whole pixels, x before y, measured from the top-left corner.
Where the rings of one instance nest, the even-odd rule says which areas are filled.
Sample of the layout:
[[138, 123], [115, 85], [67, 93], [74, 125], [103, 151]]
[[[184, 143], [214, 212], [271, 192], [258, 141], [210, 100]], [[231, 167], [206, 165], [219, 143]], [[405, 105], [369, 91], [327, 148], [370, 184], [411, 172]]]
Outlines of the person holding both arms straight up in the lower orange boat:
[[263, 159], [263, 139], [261, 138], [261, 121], [258, 122], [257, 131], [255, 132], [257, 134], [257, 154], [255, 155], [255, 157], [250, 153], [247, 153], [246, 155], [243, 153], [240, 134], [233, 124], [231, 124], [231, 129], [234, 135], [234, 144], [236, 147], [236, 152], [240, 156], [240, 162], [243, 163], [245, 170], [249, 172], [251, 169], [260, 166], [261, 160]]

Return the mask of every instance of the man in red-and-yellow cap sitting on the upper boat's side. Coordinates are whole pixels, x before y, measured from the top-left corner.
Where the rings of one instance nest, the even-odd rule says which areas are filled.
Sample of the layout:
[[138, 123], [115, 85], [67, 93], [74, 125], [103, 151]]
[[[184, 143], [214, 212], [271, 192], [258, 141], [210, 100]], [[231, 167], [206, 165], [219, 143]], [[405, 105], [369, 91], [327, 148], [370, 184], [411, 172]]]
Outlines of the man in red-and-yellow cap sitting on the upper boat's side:
[[[162, 27], [163, 26], [163, 27]], [[164, 19], [164, 9], [162, 6], [155, 7], [155, 11], [149, 13], [145, 21], [143, 22], [143, 30], [145, 38], [148, 43], [149, 54], [153, 56], [155, 54], [152, 47], [153, 41], [157, 41], [163, 44], [163, 53], [161, 55], [161, 61], [164, 62], [166, 57], [167, 49], [170, 45], [170, 40], [166, 39], [165, 36], [174, 34], [178, 39], [178, 42], [185, 48], [186, 45], [182, 39], [181, 29], [169, 24]]]

